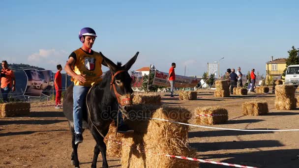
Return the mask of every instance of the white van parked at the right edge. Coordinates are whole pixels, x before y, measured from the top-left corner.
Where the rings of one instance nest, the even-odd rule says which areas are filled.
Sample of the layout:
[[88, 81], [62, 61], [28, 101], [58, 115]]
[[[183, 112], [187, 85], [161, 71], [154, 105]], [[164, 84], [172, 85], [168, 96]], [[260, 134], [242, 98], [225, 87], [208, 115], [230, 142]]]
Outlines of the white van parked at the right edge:
[[299, 85], [299, 65], [288, 66], [284, 84]]

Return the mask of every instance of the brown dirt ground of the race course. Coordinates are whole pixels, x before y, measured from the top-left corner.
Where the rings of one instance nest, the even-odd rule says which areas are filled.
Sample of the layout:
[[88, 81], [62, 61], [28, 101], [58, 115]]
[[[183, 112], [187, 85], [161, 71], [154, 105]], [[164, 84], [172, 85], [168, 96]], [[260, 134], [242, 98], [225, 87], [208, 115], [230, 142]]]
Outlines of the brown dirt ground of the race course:
[[[234, 129], [299, 129], [299, 111], [278, 111], [274, 94], [214, 98], [211, 91], [202, 91], [194, 101], [162, 99], [162, 106], [224, 107], [229, 122], [215, 125]], [[243, 116], [241, 104], [250, 100], [267, 101], [269, 113], [264, 116]], [[0, 118], [0, 168], [73, 168], [70, 166], [71, 136], [62, 109], [53, 102], [32, 103], [30, 115]], [[192, 120], [190, 121], [192, 123]], [[200, 159], [259, 168], [299, 168], [299, 132], [241, 132], [191, 127], [190, 146], [197, 149]], [[89, 131], [79, 145], [81, 168], [90, 168], [95, 141]], [[174, 154], [175, 155], [175, 154]], [[120, 168], [120, 158], [108, 158], [111, 168]], [[98, 167], [102, 166], [101, 155]], [[201, 168], [225, 166], [199, 163]]]

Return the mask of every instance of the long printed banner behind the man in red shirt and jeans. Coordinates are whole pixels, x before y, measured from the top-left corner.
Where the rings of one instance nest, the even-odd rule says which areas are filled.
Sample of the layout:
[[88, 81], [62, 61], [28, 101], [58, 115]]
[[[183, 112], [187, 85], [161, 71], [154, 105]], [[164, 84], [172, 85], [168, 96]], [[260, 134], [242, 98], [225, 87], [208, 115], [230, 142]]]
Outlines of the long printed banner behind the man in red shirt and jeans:
[[[170, 83], [169, 81], [167, 81], [168, 76], [169, 73], [160, 72], [156, 70], [152, 84], [170, 87]], [[175, 87], [195, 87], [199, 82], [200, 79], [198, 78], [176, 75]]]

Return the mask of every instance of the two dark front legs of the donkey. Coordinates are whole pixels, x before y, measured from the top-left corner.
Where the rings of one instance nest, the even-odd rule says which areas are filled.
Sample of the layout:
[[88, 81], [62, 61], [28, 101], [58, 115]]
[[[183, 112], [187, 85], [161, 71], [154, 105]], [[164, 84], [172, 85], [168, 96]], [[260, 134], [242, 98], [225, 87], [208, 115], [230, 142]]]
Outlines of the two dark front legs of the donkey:
[[94, 154], [93, 154], [91, 168], [96, 168], [96, 162], [100, 152], [102, 153], [102, 159], [103, 159], [102, 167], [108, 168], [108, 163], [106, 159], [106, 144], [104, 143], [104, 138], [95, 129], [90, 130], [90, 132], [94, 140], [96, 141], [96, 145], [94, 146]]

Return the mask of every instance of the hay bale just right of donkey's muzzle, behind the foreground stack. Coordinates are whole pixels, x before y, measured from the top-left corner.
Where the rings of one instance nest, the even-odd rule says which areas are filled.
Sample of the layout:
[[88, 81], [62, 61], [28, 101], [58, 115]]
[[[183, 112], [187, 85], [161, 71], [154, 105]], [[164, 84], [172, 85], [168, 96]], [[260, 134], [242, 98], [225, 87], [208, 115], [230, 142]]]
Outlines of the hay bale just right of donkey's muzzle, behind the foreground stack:
[[156, 93], [134, 94], [133, 104], [161, 105], [161, 96]]

